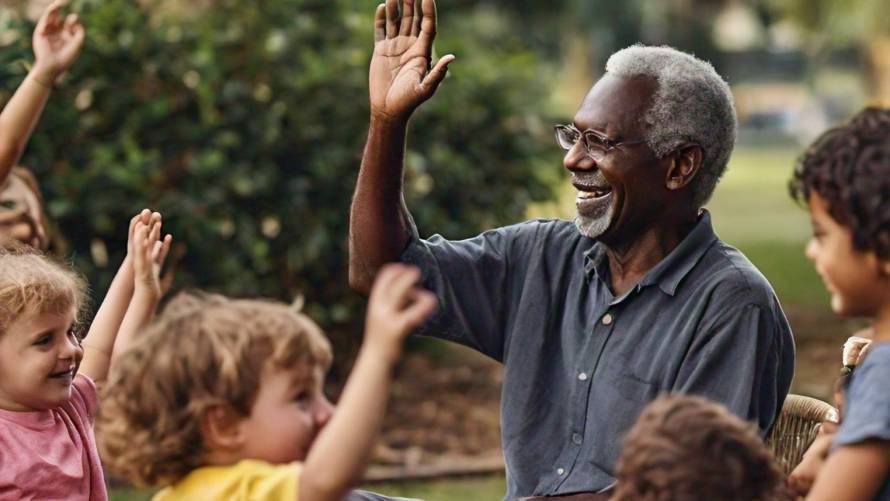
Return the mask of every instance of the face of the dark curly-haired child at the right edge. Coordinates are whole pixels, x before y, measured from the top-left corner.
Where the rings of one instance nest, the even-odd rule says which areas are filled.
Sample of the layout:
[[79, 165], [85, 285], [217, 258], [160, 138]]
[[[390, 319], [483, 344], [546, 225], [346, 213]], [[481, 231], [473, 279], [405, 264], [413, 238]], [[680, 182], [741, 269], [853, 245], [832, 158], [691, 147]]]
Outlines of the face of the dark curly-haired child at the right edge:
[[806, 255], [831, 293], [831, 309], [844, 316], [874, 316], [888, 295], [880, 260], [873, 252], [853, 248], [850, 229], [831, 217], [817, 193], [810, 196], [809, 206], [813, 237]]

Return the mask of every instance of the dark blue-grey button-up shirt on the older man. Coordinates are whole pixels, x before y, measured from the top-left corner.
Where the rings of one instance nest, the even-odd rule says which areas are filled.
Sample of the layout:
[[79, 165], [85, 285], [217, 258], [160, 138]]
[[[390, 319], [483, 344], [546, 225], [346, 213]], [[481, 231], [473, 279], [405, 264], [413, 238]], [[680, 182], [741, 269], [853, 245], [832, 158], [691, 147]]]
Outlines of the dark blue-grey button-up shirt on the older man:
[[621, 297], [602, 244], [569, 221], [536, 220], [468, 240], [416, 230], [439, 311], [421, 330], [504, 364], [507, 498], [614, 483], [622, 437], [664, 392], [722, 402], [764, 432], [794, 371], [794, 341], [772, 287], [698, 224]]

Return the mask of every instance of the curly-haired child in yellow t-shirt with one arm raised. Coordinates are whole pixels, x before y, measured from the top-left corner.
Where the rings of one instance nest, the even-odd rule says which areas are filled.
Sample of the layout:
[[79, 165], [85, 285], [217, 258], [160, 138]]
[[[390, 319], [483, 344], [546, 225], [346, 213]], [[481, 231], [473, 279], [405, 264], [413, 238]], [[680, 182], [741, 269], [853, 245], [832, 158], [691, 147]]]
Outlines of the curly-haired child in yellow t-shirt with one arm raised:
[[403, 341], [435, 309], [419, 278], [404, 265], [381, 270], [336, 412], [323, 393], [331, 349], [305, 315], [177, 296], [103, 393], [106, 464], [136, 485], [166, 486], [156, 501], [340, 501], [362, 478]]

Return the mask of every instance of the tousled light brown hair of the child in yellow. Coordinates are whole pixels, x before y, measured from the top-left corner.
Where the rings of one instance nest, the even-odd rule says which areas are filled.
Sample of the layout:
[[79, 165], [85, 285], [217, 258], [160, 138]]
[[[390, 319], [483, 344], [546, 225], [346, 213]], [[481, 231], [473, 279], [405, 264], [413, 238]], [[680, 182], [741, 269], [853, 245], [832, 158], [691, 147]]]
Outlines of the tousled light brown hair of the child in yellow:
[[169, 485], [203, 466], [204, 415], [225, 405], [249, 416], [270, 363], [307, 374], [327, 369], [330, 344], [283, 303], [176, 296], [103, 390], [97, 430], [106, 466], [138, 486]]

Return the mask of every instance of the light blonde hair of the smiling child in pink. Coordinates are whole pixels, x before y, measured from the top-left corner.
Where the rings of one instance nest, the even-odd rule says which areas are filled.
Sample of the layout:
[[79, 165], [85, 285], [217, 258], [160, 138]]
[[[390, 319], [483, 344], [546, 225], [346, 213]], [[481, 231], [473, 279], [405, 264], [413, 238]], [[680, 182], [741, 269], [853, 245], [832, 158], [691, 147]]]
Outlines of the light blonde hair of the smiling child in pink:
[[23, 244], [0, 248], [0, 335], [23, 317], [75, 313], [85, 302], [86, 282], [68, 266]]

